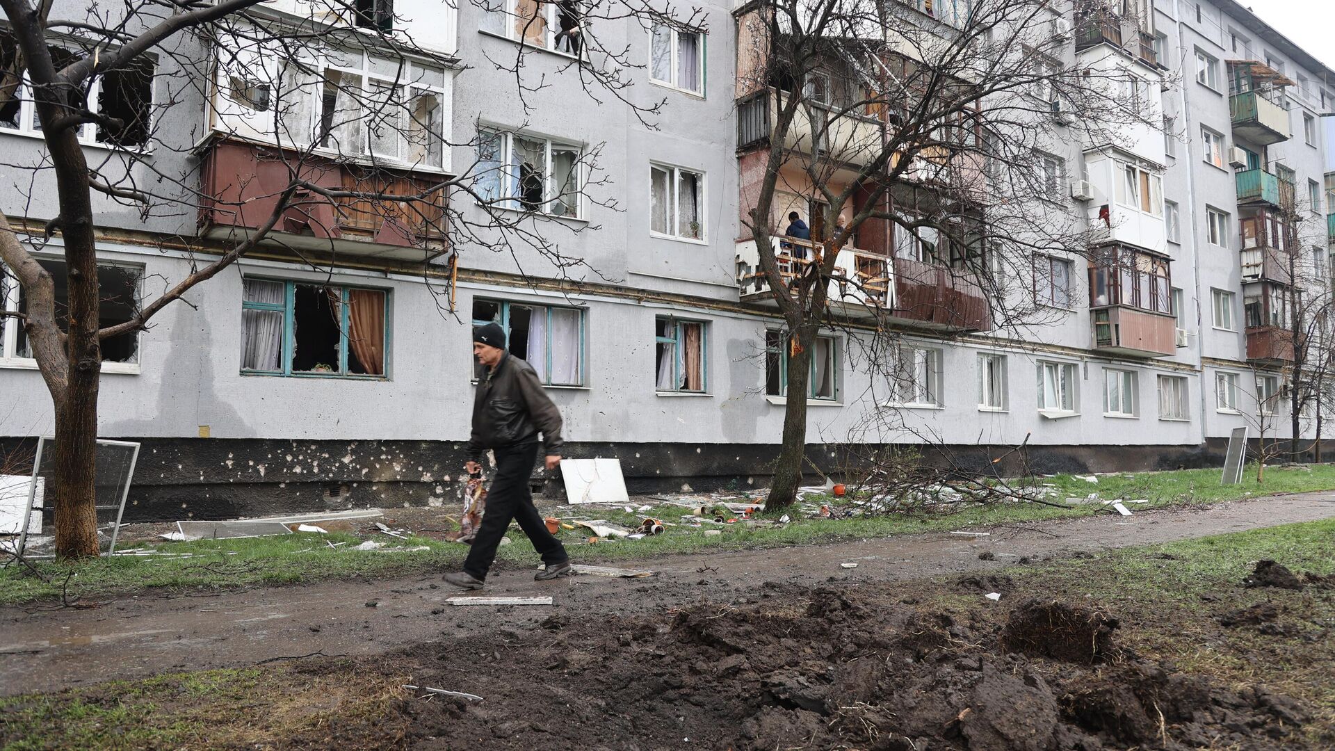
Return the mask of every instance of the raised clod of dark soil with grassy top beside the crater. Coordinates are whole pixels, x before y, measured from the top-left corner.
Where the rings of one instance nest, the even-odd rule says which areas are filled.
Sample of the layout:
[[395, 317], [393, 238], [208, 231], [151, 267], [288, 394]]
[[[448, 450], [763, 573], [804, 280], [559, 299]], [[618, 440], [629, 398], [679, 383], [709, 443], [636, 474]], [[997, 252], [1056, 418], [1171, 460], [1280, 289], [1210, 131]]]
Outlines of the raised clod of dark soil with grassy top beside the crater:
[[1117, 619], [1100, 609], [1025, 600], [1011, 611], [1001, 648], [1088, 665], [1112, 655], [1115, 628]]

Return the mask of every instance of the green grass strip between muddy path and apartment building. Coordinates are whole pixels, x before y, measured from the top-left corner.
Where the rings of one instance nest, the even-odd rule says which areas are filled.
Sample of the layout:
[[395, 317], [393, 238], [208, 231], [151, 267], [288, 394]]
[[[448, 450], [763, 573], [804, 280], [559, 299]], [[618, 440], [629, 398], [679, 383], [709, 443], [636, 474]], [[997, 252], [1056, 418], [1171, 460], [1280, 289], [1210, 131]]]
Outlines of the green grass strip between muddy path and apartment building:
[[[1189, 502], [1223, 500], [1303, 490], [1335, 489], [1335, 466], [1314, 465], [1310, 469], [1278, 469], [1266, 472], [1264, 485], [1255, 481], [1255, 468], [1239, 485], [1219, 485], [1219, 470], [1180, 470], [1159, 473], [1131, 473], [1100, 476], [1097, 484], [1068, 474], [1036, 478], [1045, 490], [1044, 500], [1063, 502], [1067, 497], [1097, 493], [1100, 498], [1149, 500], [1148, 505], [1132, 510]], [[740, 498], [738, 498], [740, 500]], [[834, 498], [809, 497], [808, 505], [830, 504]], [[1015, 524], [1052, 518], [1073, 518], [1099, 513], [1101, 505], [1085, 504], [1069, 509], [1041, 504], [1008, 502], [992, 506], [973, 506], [945, 513], [918, 512], [874, 517], [806, 518], [798, 510], [789, 510], [789, 524], [750, 528], [738, 521], [730, 525], [690, 528], [680, 524], [689, 509], [670, 504], [657, 504], [649, 510], [622, 506], [559, 506], [561, 517], [597, 517], [606, 521], [638, 525], [646, 516], [677, 524], [668, 532], [641, 540], [601, 541], [583, 544], [590, 535], [582, 528], [563, 531], [562, 540], [570, 547], [571, 557], [582, 563], [611, 563], [649, 559], [655, 556], [708, 551], [736, 551], [810, 545], [850, 539], [886, 537], [922, 532], [944, 532], [975, 525]], [[550, 509], [549, 509], [550, 510]], [[770, 514], [768, 518], [773, 518]], [[706, 535], [706, 531], [720, 535]], [[216, 592], [240, 587], [299, 584], [322, 579], [392, 577], [419, 571], [447, 571], [463, 563], [467, 548], [455, 543], [437, 543], [427, 539], [394, 540], [378, 535], [376, 541], [394, 547], [426, 545], [418, 552], [359, 552], [348, 551], [360, 541], [343, 533], [296, 533], [280, 537], [250, 537], [235, 540], [202, 540], [194, 543], [167, 543], [155, 545], [162, 552], [190, 552], [190, 559], [116, 556], [76, 564], [55, 561], [36, 563], [44, 579], [21, 567], [0, 569], [0, 604], [28, 603], [59, 599], [61, 591], [68, 599], [105, 597], [146, 589], [166, 589], [186, 593]], [[527, 539], [511, 531], [513, 544], [503, 545], [497, 556], [502, 567], [535, 565], [533, 547]], [[328, 543], [347, 543], [331, 549]], [[231, 555], [230, 555], [231, 553]]]

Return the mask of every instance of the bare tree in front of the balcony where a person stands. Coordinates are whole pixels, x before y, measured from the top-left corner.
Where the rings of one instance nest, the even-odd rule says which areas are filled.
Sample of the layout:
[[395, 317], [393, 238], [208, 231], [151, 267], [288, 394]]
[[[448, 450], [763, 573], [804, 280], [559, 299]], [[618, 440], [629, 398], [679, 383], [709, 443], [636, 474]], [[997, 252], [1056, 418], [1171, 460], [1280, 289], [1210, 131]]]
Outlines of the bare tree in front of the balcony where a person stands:
[[[786, 327], [769, 346], [786, 373], [774, 508], [801, 481], [821, 326], [853, 315], [949, 337], [1041, 323], [1044, 303], [1069, 302], [1053, 299], [1065, 293], [1052, 274], [1100, 229], [1065, 208], [1053, 155], [1157, 126], [1143, 82], [1075, 65], [1071, 16], [1051, 3], [947, 3], [936, 19], [913, 5], [760, 0], [738, 13], [741, 279]], [[789, 211], [809, 215], [810, 239], [785, 237]]]

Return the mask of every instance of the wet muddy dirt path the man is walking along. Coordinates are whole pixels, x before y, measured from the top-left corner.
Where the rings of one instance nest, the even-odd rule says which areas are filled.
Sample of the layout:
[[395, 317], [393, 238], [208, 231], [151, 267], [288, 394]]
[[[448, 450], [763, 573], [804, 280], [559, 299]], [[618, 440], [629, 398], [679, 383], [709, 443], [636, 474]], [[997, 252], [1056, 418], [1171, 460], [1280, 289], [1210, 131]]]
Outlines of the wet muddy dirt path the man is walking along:
[[[914, 579], [1000, 568], [1021, 556], [1061, 556], [1330, 517], [1335, 517], [1335, 493], [1307, 493], [1199, 510], [999, 527], [987, 537], [933, 533], [618, 564], [657, 571], [653, 579], [581, 576], [535, 583], [530, 569], [511, 569], [494, 573], [486, 592], [551, 595], [554, 607], [451, 607], [445, 600], [458, 592], [438, 587], [435, 576], [411, 576], [206, 597], [147, 595], [87, 611], [0, 608], [0, 695], [251, 665], [314, 652], [376, 655], [426, 640], [463, 639], [479, 629], [527, 629], [553, 612], [595, 619], [700, 601], [726, 603], [765, 581], [809, 585], [830, 577], [852, 583]], [[996, 559], [979, 560], [983, 551], [992, 551]], [[841, 563], [856, 563], [857, 568], [845, 569]], [[370, 601], [376, 605], [368, 607]]]

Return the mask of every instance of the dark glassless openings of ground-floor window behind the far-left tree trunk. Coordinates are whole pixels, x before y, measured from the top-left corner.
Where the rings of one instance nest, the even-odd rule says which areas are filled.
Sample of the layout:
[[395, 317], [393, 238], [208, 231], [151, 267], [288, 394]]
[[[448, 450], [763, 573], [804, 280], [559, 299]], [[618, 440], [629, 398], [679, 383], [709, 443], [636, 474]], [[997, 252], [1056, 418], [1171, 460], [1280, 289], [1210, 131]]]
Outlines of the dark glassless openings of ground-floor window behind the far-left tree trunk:
[[[56, 297], [56, 323], [67, 330], [69, 318], [68, 270], [64, 261], [39, 258], [37, 263], [51, 274]], [[101, 302], [97, 306], [97, 325], [103, 329], [125, 323], [139, 311], [139, 278], [142, 269], [131, 266], [97, 266], [97, 287]], [[3, 301], [0, 301], [3, 302]], [[19, 313], [28, 311], [28, 298], [19, 287]], [[15, 355], [33, 357], [32, 342], [20, 326]], [[3, 354], [3, 353], [0, 353]], [[121, 334], [101, 341], [101, 359], [105, 362], [139, 362], [139, 334]]]

